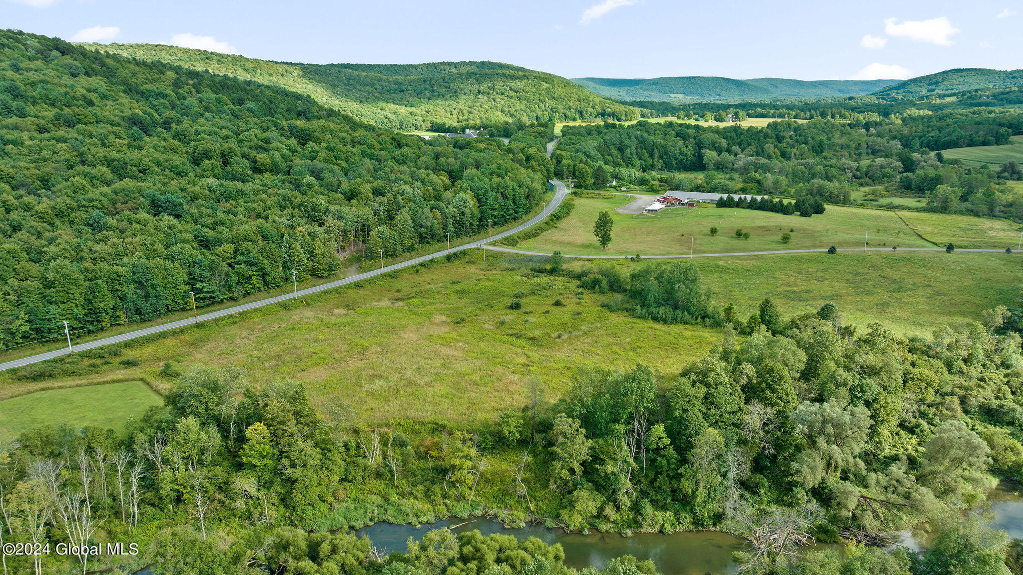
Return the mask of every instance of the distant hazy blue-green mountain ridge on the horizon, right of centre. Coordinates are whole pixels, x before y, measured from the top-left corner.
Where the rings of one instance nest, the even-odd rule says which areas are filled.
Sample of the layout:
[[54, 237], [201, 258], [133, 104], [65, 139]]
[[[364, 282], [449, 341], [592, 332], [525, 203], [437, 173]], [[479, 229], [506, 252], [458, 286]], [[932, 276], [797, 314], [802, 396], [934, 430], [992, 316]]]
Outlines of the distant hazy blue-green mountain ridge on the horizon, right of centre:
[[717, 76], [652, 79], [573, 78], [588, 90], [621, 100], [717, 101], [768, 98], [824, 98], [870, 94], [898, 80], [736, 80]]

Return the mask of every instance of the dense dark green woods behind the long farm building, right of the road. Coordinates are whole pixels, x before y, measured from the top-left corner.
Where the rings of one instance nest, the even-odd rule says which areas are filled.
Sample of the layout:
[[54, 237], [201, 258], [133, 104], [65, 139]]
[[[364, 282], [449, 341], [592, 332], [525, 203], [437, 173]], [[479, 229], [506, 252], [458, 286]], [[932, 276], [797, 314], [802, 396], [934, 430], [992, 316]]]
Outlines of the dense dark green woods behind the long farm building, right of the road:
[[[1023, 219], [1015, 173], [962, 166], [940, 150], [1008, 143], [1023, 115], [977, 109], [873, 122], [772, 122], [763, 129], [638, 122], [565, 126], [552, 160], [584, 187], [611, 180], [717, 193], [810, 195], [847, 204], [861, 186], [928, 197], [931, 209]], [[1007, 168], [1008, 169], [1008, 168]], [[697, 180], [681, 172], [703, 171]]]

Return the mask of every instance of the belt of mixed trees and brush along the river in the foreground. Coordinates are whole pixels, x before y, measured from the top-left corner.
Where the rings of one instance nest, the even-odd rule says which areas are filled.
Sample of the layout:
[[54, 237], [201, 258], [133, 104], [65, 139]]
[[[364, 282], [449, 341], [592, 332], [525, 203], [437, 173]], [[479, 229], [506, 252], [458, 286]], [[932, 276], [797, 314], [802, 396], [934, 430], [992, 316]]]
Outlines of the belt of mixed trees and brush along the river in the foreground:
[[[634, 313], [668, 306], [693, 317], [709, 305], [692, 264], [624, 275], [548, 264], [524, 273], [584, 289], [603, 277]], [[522, 408], [479, 429], [368, 426], [349, 404], [314, 409], [301, 383], [256, 389], [235, 367], [168, 363], [164, 405], [126, 434], [48, 426], [5, 447], [0, 534], [139, 544], [138, 557], [93, 559], [92, 569], [127, 560], [176, 574], [567, 573], [560, 546], [538, 540], [437, 531], [382, 558], [346, 530], [491, 514], [572, 530], [723, 529], [749, 541], [749, 573], [1009, 573], [1005, 534], [955, 519], [994, 477], [1023, 474], [1023, 357], [1005, 308], [929, 339], [846, 324], [831, 304], [790, 318], [770, 300], [748, 319], [729, 309], [715, 311], [727, 320], [719, 345], [681, 372], [584, 367], [550, 399], [534, 381]], [[810, 540], [884, 543], [921, 524], [936, 533], [923, 556], [855, 545], [791, 555]], [[65, 560], [43, 556], [40, 567]], [[31, 563], [7, 558], [14, 572]], [[652, 571], [623, 558], [605, 572]]]

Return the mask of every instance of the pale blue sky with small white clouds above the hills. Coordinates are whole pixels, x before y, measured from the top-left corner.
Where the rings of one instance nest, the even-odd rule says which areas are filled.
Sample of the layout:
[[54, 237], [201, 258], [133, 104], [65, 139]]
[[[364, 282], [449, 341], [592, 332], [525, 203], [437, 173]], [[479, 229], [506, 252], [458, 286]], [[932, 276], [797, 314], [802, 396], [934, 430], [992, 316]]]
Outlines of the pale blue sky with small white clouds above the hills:
[[569, 78], [875, 79], [1023, 68], [1023, 2], [0, 0], [0, 28], [315, 63], [496, 60]]

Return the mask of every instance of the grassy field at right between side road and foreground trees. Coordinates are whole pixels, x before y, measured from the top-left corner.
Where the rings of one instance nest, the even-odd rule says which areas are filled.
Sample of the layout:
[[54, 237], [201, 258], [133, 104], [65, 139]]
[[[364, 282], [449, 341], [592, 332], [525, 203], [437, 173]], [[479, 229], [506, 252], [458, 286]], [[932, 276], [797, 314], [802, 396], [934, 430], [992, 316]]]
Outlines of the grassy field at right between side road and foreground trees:
[[785, 313], [828, 302], [846, 320], [879, 321], [901, 334], [980, 318], [1012, 305], [1023, 291], [1023, 258], [1014, 254], [839, 252], [694, 260], [715, 302], [735, 302], [743, 319], [769, 296]]

